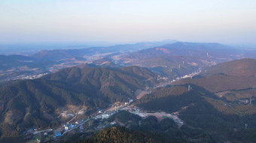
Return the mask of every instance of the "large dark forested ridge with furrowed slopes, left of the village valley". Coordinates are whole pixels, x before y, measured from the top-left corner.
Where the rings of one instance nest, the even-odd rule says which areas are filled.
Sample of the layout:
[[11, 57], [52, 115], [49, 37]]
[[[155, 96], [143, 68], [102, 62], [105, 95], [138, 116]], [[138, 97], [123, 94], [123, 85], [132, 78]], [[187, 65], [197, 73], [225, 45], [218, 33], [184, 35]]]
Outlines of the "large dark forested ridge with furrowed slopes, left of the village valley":
[[71, 67], [14, 82], [0, 89], [2, 138], [18, 137], [24, 127], [59, 124], [59, 107], [81, 105], [90, 113], [110, 103], [128, 101], [136, 90], [156, 83], [157, 75], [142, 67]]

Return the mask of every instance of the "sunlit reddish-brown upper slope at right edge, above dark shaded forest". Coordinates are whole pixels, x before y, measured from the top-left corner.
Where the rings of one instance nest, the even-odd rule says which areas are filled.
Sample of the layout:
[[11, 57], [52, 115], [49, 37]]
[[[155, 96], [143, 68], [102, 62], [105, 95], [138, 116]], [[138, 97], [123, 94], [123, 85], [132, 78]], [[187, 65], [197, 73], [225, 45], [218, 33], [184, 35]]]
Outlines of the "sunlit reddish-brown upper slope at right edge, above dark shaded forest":
[[[255, 74], [256, 60], [245, 58], [209, 67], [200, 75], [194, 76], [192, 79], [181, 79], [178, 82], [174, 82], [173, 85], [194, 84], [216, 94], [224, 91], [239, 92], [253, 90], [256, 87]], [[252, 95], [253, 93], [251, 92], [250, 94]], [[232, 95], [230, 96], [232, 97]]]

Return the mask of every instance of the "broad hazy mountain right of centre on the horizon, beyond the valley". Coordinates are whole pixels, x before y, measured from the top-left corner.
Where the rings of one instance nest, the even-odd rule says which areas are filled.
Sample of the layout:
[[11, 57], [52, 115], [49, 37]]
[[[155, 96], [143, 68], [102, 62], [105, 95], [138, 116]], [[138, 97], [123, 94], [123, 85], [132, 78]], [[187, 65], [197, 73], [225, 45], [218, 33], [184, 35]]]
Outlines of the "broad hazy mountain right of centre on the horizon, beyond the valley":
[[[147, 67], [166, 76], [178, 77], [199, 68], [244, 58], [246, 53], [246, 50], [234, 49], [220, 43], [177, 42], [117, 57], [125, 65]], [[256, 52], [251, 53], [255, 56]]]

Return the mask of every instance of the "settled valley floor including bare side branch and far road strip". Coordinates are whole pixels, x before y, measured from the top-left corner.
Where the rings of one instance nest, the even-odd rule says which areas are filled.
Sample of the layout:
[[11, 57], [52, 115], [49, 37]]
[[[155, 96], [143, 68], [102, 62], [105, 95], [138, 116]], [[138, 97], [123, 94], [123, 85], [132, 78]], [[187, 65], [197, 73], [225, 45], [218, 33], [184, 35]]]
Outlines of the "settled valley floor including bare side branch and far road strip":
[[[154, 86], [153, 88], [150, 88], [146, 91], [146, 93], [151, 93], [153, 89], [160, 88], [160, 87], [165, 87], [166, 85], [171, 84], [172, 82], [178, 81], [179, 79], [184, 79], [187, 77], [192, 77], [200, 72], [196, 73], [190, 73], [189, 75], [185, 75], [176, 79], [172, 79], [172, 81], [168, 81], [165, 79], [164, 82], [159, 83], [158, 85]], [[144, 94], [145, 95], [145, 94]], [[138, 97], [137, 97], [138, 98]], [[141, 97], [140, 97], [141, 98]], [[139, 115], [141, 118], [147, 118], [149, 116], [155, 116], [157, 117], [157, 120], [160, 122], [163, 120], [163, 118], [171, 118], [173, 121], [175, 121], [175, 124], [180, 128], [184, 122], [181, 121], [180, 118], [178, 118], [178, 112], [173, 112], [173, 113], [166, 113], [166, 112], [147, 112], [143, 111], [142, 109], [139, 109], [137, 106], [134, 106], [134, 103], [136, 103], [136, 100], [129, 100], [126, 103], [114, 103], [112, 106], [108, 107], [107, 109], [99, 109], [98, 112], [93, 113], [92, 115], [89, 115], [88, 118], [83, 118], [83, 114], [81, 114], [84, 109], [80, 109], [78, 112], [70, 112], [67, 114], [67, 111], [62, 112], [60, 116], [63, 115], [70, 115], [71, 119], [67, 121], [65, 124], [62, 124], [60, 127], [55, 127], [54, 129], [45, 129], [45, 130], [40, 130], [40, 129], [29, 129], [26, 131], [24, 134], [25, 139], [32, 138], [31, 140], [27, 142], [37, 142], [38, 139], [40, 141], [51, 141], [51, 142], [56, 142], [59, 139], [63, 138], [63, 136], [66, 136], [69, 132], [75, 132], [75, 133], [87, 133], [88, 131], [90, 132], [96, 132], [98, 130], [102, 130], [104, 127], [111, 127], [114, 124], [117, 124], [115, 121], [109, 122], [108, 124], [101, 124], [102, 121], [105, 119], [111, 118], [112, 115], [117, 114], [117, 112], [120, 112], [122, 110], [130, 112], [134, 115]], [[79, 115], [81, 117], [79, 118]], [[82, 118], [82, 119], [81, 119]], [[79, 119], [79, 120], [78, 120]], [[97, 121], [97, 126], [95, 128], [85, 128], [84, 124], [87, 124], [90, 121]], [[75, 130], [75, 131], [74, 131]], [[78, 132], [79, 130], [79, 132]], [[50, 135], [48, 135], [50, 133]], [[38, 136], [41, 136], [41, 138], [38, 138]]]

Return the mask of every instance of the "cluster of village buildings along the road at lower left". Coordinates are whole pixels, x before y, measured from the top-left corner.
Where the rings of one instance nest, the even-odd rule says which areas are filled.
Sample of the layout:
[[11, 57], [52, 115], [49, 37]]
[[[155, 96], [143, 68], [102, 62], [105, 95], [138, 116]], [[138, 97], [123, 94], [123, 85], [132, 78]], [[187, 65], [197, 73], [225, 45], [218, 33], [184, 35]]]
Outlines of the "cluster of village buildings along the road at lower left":
[[[47, 141], [54, 141], [57, 139], [60, 139], [62, 136], [65, 136], [66, 133], [71, 132], [72, 130], [77, 130], [80, 133], [87, 132], [88, 130], [92, 131], [92, 129], [85, 129], [85, 124], [89, 121], [96, 121], [95, 125], [99, 125], [93, 130], [102, 130], [102, 128], [106, 127], [108, 124], [105, 124], [102, 126], [102, 120], [107, 119], [111, 117], [111, 115], [114, 115], [118, 112], [118, 110], [125, 108], [126, 106], [129, 106], [131, 103], [133, 103], [133, 100], [129, 100], [127, 103], [114, 103], [109, 107], [108, 109], [102, 110], [99, 109], [98, 112], [91, 115], [86, 120], [75, 120], [78, 116], [78, 113], [75, 113], [75, 117], [73, 117], [71, 120], [66, 122], [66, 124], [63, 124], [61, 127], [58, 127], [56, 129], [47, 129], [47, 130], [41, 130], [32, 128], [29, 130], [26, 130], [23, 132], [24, 139], [28, 140], [28, 142], [47, 142]], [[72, 115], [70, 115], [72, 116]], [[113, 125], [110, 123], [110, 125]]]

